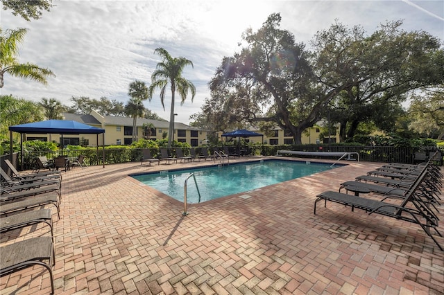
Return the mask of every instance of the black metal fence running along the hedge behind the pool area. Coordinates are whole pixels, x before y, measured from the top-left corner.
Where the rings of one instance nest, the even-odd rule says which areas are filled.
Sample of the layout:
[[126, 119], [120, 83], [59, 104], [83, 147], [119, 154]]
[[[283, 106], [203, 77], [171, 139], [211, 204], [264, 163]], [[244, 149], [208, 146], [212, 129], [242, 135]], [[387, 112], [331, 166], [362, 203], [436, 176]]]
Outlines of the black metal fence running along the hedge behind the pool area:
[[[184, 154], [189, 154], [189, 150], [183, 149]], [[214, 147], [209, 147], [208, 150], [212, 153]], [[361, 161], [369, 162], [396, 162], [396, 163], [413, 163], [415, 152], [418, 149], [412, 147], [382, 147], [382, 146], [346, 146], [346, 145], [264, 145], [253, 147], [250, 150], [251, 154], [262, 154], [264, 156], [275, 155], [278, 150], [297, 150], [307, 152], [357, 152]], [[423, 147], [422, 150], [432, 152], [436, 147]], [[169, 150], [170, 155], [175, 155], [175, 150]], [[200, 148], [196, 148], [196, 152], [200, 152]], [[85, 155], [85, 163], [90, 165], [102, 165], [103, 154], [102, 149], [97, 150], [64, 150], [65, 157], [78, 157], [80, 154]], [[444, 150], [441, 150], [444, 154]], [[61, 151], [45, 151], [45, 152], [27, 152], [24, 153], [23, 169], [30, 170], [34, 168], [35, 158], [46, 156], [48, 159], [54, 159], [62, 155]], [[158, 149], [151, 149], [153, 157], [160, 157]], [[22, 168], [21, 157], [19, 153], [14, 154], [14, 162], [17, 163], [18, 168]], [[300, 157], [300, 156], [298, 156]], [[142, 158], [142, 149], [124, 148], [124, 149], [105, 149], [105, 165], [115, 163], [127, 163], [140, 161]], [[325, 159], [325, 157], [323, 157]], [[9, 159], [9, 155], [0, 157], [0, 166], [4, 168], [3, 159]], [[332, 159], [336, 159], [333, 157]]]

